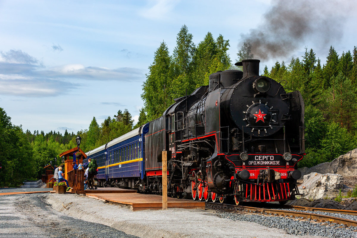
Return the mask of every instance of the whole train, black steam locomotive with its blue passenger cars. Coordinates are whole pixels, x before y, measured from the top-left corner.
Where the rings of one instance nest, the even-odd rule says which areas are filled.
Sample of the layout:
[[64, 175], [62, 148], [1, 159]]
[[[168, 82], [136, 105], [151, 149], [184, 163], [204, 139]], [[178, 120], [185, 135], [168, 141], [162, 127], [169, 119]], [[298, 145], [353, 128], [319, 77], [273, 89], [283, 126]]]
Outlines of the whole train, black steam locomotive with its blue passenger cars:
[[280, 82], [259, 76], [259, 60], [211, 74], [209, 85], [175, 99], [160, 118], [87, 152], [103, 186], [180, 198], [285, 203], [299, 194], [305, 155], [304, 102]]

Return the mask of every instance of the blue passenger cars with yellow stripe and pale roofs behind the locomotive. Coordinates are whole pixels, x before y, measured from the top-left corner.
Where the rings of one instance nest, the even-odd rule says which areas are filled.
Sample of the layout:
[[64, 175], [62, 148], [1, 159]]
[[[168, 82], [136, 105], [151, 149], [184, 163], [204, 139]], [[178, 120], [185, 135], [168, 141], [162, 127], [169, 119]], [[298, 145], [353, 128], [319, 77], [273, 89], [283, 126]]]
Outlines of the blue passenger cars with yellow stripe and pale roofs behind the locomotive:
[[[86, 153], [95, 158], [100, 185], [135, 187], [145, 177], [145, 134], [149, 123]], [[84, 161], [86, 162], [86, 161]]]

